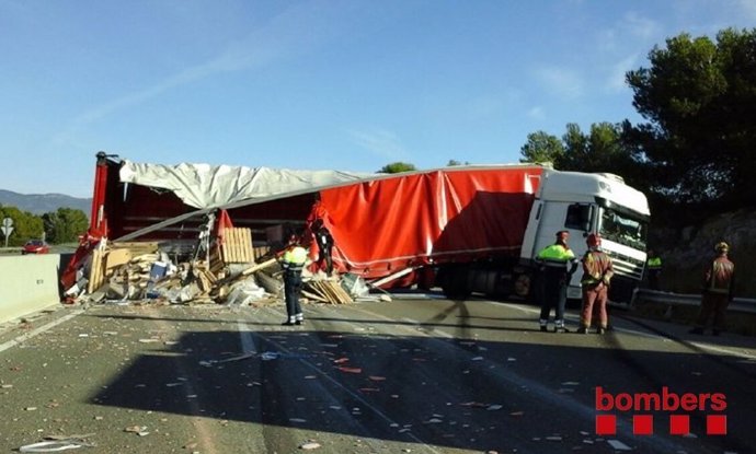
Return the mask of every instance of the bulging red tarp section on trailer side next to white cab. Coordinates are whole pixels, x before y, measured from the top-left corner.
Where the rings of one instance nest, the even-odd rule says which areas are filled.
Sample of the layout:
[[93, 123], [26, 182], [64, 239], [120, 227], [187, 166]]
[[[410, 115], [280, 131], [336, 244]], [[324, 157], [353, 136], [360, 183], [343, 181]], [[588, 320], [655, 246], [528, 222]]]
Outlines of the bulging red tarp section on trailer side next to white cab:
[[379, 278], [429, 263], [519, 255], [543, 167], [438, 170], [322, 189], [312, 219], [341, 271]]

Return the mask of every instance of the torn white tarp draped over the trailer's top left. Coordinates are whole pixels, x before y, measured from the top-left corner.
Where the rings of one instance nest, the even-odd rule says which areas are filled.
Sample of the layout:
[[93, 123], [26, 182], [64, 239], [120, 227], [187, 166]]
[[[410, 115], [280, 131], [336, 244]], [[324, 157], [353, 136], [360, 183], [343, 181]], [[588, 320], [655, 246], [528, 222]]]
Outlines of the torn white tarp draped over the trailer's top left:
[[121, 167], [121, 182], [171, 190], [184, 203], [199, 209], [352, 183], [370, 176], [376, 174], [130, 161], [124, 161]]

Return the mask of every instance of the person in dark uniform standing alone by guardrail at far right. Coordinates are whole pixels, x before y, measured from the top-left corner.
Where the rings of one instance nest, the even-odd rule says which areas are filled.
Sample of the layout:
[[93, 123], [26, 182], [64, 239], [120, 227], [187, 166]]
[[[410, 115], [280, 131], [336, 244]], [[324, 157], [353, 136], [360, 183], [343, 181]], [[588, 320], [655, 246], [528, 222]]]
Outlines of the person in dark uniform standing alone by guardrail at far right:
[[714, 258], [703, 272], [703, 293], [701, 310], [692, 334], [703, 334], [709, 318], [713, 315], [712, 334], [719, 336], [724, 329], [724, 314], [735, 295], [735, 265], [728, 258], [730, 246], [721, 242], [714, 246]]

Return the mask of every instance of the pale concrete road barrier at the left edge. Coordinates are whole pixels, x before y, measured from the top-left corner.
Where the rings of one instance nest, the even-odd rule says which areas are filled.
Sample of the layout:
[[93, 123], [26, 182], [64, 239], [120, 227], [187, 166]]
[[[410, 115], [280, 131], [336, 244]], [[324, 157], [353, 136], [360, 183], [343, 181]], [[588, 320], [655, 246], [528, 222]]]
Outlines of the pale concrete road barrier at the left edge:
[[0, 256], [0, 323], [60, 304], [60, 254]]

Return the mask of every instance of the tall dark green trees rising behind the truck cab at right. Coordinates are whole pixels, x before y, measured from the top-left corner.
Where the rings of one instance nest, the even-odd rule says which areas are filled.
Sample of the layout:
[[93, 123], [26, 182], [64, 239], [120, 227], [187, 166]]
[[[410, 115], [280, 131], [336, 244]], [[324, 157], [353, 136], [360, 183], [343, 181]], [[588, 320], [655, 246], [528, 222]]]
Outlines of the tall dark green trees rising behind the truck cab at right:
[[626, 74], [643, 123], [536, 131], [520, 161], [622, 175], [666, 221], [754, 207], [756, 28], [726, 28], [715, 39], [683, 33], [655, 46], [649, 62]]

